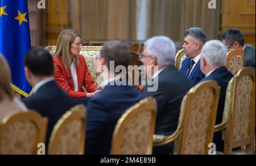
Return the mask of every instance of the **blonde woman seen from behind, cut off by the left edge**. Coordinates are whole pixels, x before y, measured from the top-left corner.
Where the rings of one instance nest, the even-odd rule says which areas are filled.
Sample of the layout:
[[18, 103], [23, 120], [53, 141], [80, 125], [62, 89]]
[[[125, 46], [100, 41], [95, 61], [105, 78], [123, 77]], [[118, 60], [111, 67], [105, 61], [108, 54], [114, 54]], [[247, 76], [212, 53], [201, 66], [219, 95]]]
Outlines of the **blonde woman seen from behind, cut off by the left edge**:
[[5, 57], [0, 55], [0, 122], [8, 114], [27, 111], [27, 107], [14, 97], [11, 88], [11, 72]]

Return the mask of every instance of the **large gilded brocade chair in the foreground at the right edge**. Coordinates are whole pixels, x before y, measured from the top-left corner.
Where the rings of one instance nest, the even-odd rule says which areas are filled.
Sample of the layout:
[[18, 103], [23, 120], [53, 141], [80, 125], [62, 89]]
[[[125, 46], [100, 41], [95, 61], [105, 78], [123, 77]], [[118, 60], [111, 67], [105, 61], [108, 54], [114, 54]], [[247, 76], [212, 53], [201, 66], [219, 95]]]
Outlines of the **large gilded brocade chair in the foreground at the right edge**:
[[254, 153], [255, 137], [255, 69], [243, 68], [229, 81], [222, 123], [214, 128], [222, 131], [224, 154], [237, 153], [233, 148], [246, 146]]

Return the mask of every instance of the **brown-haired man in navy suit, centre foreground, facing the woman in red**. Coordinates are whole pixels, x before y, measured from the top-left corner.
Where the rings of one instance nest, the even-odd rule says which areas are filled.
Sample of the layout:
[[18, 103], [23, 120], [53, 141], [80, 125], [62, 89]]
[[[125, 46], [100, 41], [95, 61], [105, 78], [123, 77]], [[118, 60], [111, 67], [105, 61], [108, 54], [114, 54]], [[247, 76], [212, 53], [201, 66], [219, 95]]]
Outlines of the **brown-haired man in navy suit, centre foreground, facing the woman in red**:
[[108, 155], [115, 124], [129, 107], [141, 99], [138, 90], [119, 77], [126, 77], [126, 74], [116, 72], [118, 66], [126, 69], [129, 63], [129, 48], [117, 40], [106, 42], [96, 59], [97, 71], [103, 70], [100, 77], [104, 82], [102, 91], [86, 105], [85, 154]]

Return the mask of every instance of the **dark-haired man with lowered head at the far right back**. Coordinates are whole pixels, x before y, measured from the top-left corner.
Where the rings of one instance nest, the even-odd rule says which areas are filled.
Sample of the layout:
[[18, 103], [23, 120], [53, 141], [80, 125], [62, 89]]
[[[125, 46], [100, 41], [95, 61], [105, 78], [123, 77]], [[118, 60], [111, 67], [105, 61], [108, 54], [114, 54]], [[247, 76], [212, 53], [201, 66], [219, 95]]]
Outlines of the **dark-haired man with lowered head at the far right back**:
[[245, 51], [245, 67], [255, 68], [255, 50], [245, 44], [240, 30], [233, 28], [225, 31], [220, 40], [228, 49], [243, 49]]

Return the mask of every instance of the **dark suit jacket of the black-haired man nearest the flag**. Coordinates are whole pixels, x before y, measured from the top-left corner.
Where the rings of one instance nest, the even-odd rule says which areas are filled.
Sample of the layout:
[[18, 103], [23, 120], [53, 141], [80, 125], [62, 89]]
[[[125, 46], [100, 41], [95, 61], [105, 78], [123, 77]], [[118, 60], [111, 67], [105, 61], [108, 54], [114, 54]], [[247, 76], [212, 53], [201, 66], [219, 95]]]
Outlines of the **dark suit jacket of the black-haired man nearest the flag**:
[[28, 109], [38, 111], [43, 117], [48, 118], [46, 147], [54, 124], [73, 105], [71, 98], [56, 84], [50, 81], [41, 86], [35, 94], [22, 99]]

